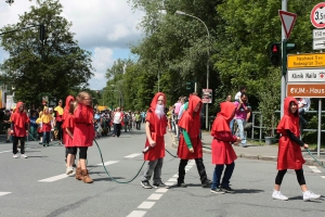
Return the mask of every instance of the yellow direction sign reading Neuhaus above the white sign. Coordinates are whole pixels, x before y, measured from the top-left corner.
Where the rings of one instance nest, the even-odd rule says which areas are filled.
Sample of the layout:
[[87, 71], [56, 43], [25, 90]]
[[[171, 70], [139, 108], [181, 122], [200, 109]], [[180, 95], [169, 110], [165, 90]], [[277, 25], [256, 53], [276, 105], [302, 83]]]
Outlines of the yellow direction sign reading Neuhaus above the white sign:
[[325, 67], [325, 53], [303, 53], [288, 55], [288, 69]]

